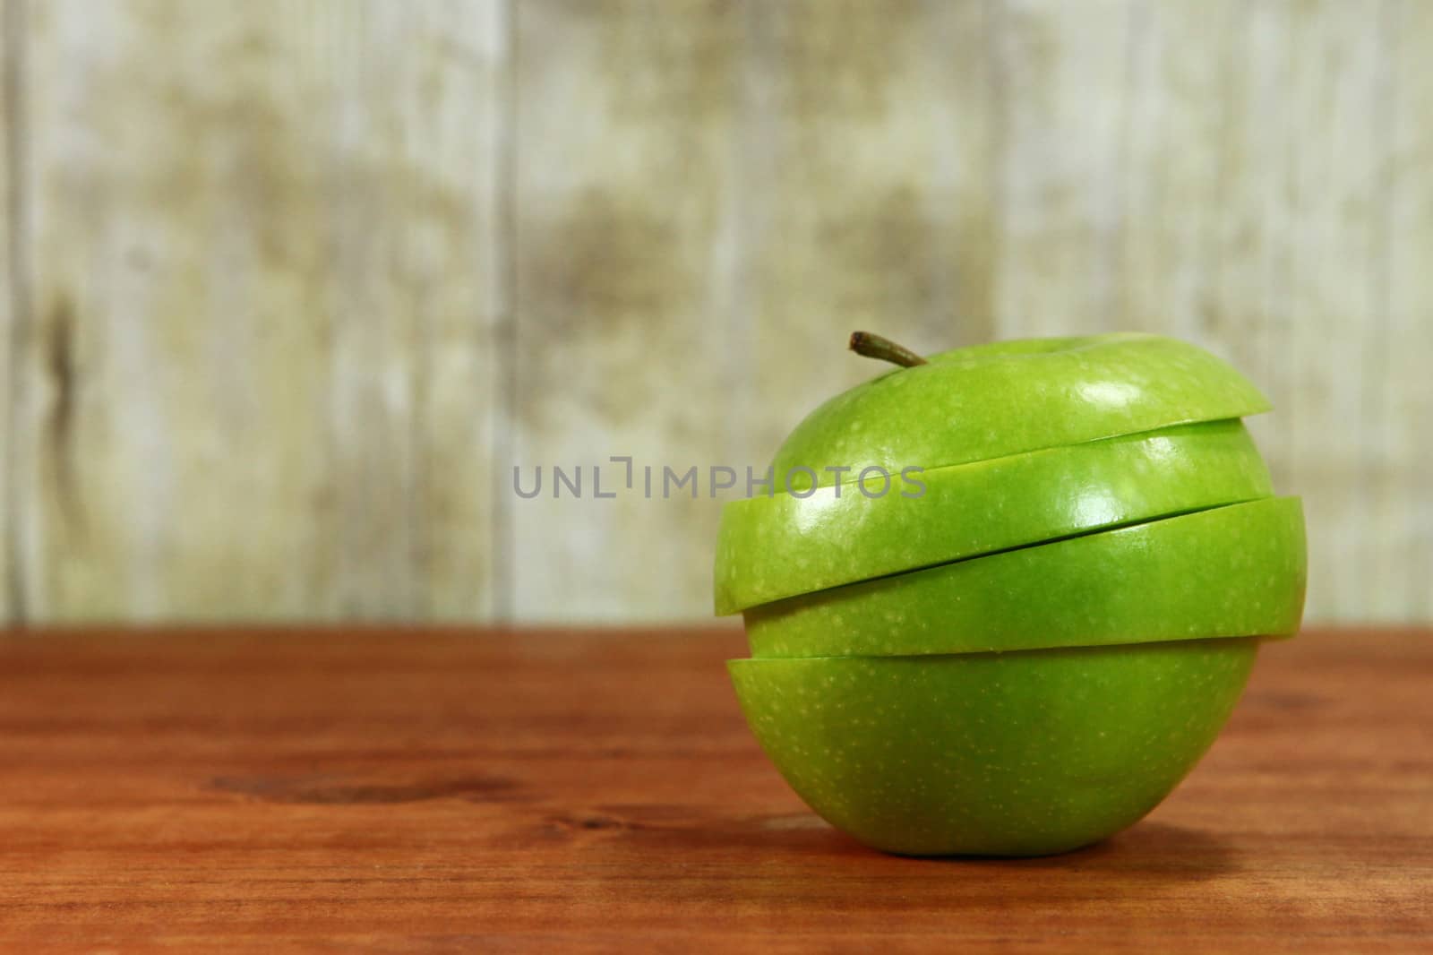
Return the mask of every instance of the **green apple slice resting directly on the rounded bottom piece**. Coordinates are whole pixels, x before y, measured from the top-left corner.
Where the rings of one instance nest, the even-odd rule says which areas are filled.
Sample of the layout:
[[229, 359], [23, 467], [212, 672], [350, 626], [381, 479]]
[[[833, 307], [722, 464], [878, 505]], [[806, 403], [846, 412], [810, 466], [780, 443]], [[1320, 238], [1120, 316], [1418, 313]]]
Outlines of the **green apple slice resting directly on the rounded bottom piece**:
[[1298, 498], [1267, 498], [794, 597], [745, 612], [754, 657], [893, 657], [1287, 635]]

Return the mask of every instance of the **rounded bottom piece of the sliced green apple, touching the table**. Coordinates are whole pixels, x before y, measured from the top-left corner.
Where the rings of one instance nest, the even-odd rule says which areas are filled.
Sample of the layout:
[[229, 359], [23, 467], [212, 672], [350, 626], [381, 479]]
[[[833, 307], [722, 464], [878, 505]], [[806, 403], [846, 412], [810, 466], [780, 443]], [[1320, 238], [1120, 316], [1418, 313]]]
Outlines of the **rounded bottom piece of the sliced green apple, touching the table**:
[[1039, 856], [1154, 809], [1214, 743], [1255, 638], [954, 657], [734, 660], [761, 747], [898, 855]]

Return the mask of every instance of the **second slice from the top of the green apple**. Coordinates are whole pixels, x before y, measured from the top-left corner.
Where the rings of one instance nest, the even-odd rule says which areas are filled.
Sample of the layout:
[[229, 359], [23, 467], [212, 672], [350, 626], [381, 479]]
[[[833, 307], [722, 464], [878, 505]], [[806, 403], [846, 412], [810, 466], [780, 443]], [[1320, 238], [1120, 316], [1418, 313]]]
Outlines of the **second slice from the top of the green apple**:
[[716, 612], [1072, 533], [1274, 493], [1238, 420], [1049, 447], [891, 483], [732, 500], [716, 539]]

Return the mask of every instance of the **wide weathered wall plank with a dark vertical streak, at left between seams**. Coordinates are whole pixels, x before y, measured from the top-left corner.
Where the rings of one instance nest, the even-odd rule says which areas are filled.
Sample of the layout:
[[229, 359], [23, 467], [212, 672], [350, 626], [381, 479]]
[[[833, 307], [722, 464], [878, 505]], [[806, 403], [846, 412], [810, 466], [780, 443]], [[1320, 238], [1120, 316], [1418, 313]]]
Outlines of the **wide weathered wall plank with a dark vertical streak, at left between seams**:
[[490, 605], [493, 10], [32, 7], [39, 618]]

